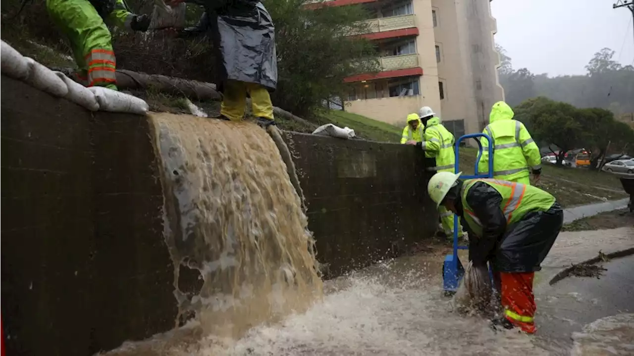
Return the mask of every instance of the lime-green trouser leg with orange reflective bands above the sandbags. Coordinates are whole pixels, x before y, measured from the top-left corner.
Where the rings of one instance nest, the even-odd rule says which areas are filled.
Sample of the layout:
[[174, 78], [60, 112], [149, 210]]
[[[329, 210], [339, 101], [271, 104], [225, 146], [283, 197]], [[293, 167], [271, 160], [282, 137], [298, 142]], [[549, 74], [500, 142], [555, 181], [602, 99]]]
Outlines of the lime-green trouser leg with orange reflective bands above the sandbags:
[[80, 73], [86, 74], [87, 86], [117, 90], [112, 36], [93, 5], [86, 0], [46, 0], [46, 8], [68, 36]]

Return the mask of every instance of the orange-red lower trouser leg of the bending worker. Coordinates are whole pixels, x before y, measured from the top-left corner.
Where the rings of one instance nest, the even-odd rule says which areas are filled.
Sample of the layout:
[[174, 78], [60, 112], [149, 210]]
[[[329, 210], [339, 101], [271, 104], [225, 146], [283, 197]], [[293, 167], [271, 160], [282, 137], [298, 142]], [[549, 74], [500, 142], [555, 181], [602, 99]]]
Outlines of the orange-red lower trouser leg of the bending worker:
[[529, 334], [536, 331], [534, 316], [537, 307], [533, 296], [533, 277], [534, 272], [500, 272], [504, 316]]

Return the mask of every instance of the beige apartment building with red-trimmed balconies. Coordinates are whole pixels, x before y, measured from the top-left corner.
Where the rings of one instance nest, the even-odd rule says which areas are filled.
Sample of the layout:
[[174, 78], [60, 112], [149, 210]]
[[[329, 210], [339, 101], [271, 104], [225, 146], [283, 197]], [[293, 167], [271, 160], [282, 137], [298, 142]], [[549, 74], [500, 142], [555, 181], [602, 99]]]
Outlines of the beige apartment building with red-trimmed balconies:
[[361, 4], [381, 71], [349, 77], [345, 110], [404, 125], [430, 106], [456, 135], [478, 132], [493, 103], [503, 100], [490, 0], [328, 0]]

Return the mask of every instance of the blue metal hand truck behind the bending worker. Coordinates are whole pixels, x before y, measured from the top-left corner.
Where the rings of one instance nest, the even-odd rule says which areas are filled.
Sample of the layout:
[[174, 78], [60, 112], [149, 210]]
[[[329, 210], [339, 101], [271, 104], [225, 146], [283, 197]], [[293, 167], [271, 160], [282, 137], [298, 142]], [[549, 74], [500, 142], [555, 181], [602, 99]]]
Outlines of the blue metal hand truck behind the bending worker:
[[[477, 168], [480, 163], [480, 158], [482, 157], [482, 143], [478, 139], [479, 137], [486, 137], [489, 142], [489, 171], [487, 174], [478, 174]], [[455, 173], [460, 172], [458, 168], [458, 154], [460, 150], [460, 143], [464, 139], [475, 138], [478, 145], [478, 153], [477, 158], [475, 159], [475, 172], [474, 175], [461, 175], [462, 179], [474, 179], [474, 178], [493, 178], [493, 139], [489, 137], [487, 134], [468, 134], [460, 136], [458, 140], [456, 140], [455, 144], [455, 152], [456, 152], [456, 165], [455, 165]], [[446, 294], [452, 294], [456, 292], [458, 289], [458, 283], [460, 283], [460, 279], [465, 275], [465, 269], [460, 263], [460, 259], [458, 258], [458, 250], [469, 250], [469, 246], [458, 246], [458, 215], [453, 215], [453, 253], [451, 255], [446, 255], [444, 257], [443, 263], [443, 290]]]

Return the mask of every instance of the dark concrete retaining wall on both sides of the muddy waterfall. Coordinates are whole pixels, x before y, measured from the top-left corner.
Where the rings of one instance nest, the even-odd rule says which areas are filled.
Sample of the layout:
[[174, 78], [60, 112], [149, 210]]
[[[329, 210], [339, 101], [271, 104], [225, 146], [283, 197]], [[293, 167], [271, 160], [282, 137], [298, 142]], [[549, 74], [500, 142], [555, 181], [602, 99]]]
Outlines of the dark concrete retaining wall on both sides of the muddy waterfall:
[[[0, 75], [0, 308], [8, 355], [89, 355], [174, 326], [146, 118]], [[285, 134], [328, 276], [434, 230], [411, 146]], [[187, 289], [188, 286], [181, 286]]]

